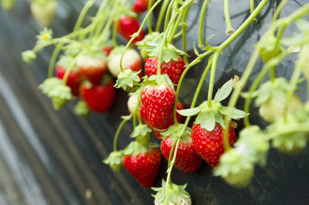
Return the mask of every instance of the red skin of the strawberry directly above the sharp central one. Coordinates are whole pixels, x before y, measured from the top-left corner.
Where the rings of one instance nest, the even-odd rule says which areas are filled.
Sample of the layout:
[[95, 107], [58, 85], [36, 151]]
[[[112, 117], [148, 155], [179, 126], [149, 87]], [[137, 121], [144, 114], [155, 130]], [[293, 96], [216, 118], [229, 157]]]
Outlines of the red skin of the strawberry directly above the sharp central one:
[[[174, 84], [178, 84], [181, 74], [184, 72], [185, 69], [184, 60], [178, 56], [178, 60], [174, 61], [171, 59], [170, 62], [161, 62], [161, 74], [167, 74], [170, 77], [171, 81]], [[145, 72], [148, 77], [151, 75], [156, 75], [158, 69], [158, 58], [157, 57], [150, 57], [147, 58], [145, 63]]]

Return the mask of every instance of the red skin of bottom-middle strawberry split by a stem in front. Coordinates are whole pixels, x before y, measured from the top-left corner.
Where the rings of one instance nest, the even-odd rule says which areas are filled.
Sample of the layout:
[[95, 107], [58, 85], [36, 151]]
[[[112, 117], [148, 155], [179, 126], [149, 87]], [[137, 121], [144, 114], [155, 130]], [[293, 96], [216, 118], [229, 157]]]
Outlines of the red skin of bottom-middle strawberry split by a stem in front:
[[[167, 137], [163, 139], [161, 142], [161, 152], [167, 161], [170, 156], [173, 142], [174, 141], [172, 140], [171, 137]], [[200, 168], [202, 161], [203, 159], [201, 158], [200, 155], [197, 154], [197, 152], [193, 147], [191, 137], [188, 137], [188, 141], [186, 144], [184, 144], [180, 140], [174, 167], [186, 173], [193, 173]]]

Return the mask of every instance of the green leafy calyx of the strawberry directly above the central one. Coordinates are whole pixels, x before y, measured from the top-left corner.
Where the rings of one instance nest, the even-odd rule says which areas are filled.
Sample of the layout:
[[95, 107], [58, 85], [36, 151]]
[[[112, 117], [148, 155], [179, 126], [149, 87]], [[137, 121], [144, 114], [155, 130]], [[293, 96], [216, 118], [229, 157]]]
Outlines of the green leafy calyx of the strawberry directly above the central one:
[[[149, 44], [149, 42], [148, 42]], [[155, 43], [155, 42], [151, 42], [151, 46], [153, 47], [153, 49], [145, 49], [148, 53], [149, 57], [158, 57], [159, 56], [159, 52], [160, 52], [160, 47], [161, 45]], [[162, 51], [162, 59], [164, 62], [170, 62], [171, 59], [173, 59], [174, 61], [178, 60], [178, 56], [180, 55], [187, 55], [185, 52], [183, 52], [182, 50], [179, 50], [178, 48], [176, 48], [175, 46], [173, 46], [172, 44], [167, 44], [167, 47], [164, 46], [163, 51]]]

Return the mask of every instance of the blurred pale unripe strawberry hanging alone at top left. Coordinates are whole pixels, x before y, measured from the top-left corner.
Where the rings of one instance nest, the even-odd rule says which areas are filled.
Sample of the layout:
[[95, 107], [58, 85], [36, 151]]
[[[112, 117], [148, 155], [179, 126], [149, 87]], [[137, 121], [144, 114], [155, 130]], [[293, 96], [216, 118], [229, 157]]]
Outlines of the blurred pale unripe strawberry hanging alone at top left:
[[30, 11], [33, 18], [43, 27], [49, 27], [57, 11], [56, 0], [31, 1]]

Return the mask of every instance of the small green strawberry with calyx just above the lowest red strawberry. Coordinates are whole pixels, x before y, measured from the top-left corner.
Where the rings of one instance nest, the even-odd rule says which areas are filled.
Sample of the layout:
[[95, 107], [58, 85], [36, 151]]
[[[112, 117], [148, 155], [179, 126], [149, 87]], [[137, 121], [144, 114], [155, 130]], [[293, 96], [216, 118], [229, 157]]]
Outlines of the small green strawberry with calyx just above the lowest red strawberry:
[[151, 139], [152, 130], [147, 125], [140, 124], [134, 127], [130, 137], [135, 138], [138, 143], [147, 146]]

